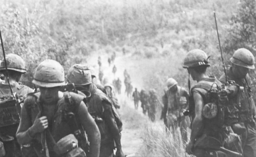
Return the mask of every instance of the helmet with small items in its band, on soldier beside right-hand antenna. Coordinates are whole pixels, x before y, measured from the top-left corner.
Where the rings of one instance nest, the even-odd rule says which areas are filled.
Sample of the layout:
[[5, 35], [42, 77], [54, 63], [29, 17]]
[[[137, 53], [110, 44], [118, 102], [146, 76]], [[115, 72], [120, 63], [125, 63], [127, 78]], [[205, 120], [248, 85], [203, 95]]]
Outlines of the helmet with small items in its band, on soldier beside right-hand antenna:
[[190, 50], [184, 58], [183, 67], [191, 68], [198, 66], [210, 66], [207, 54], [200, 49]]

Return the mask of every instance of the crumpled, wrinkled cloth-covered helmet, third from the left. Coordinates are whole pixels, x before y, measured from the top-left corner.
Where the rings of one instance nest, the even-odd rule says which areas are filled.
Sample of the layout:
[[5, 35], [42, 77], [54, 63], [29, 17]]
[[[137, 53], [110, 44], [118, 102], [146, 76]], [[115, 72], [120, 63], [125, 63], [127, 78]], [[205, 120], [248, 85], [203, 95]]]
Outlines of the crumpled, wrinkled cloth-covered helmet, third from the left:
[[74, 64], [66, 75], [69, 83], [75, 85], [89, 85], [92, 83], [92, 75], [89, 66], [83, 64]]

